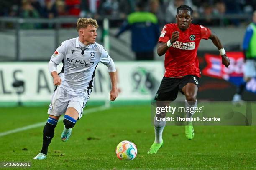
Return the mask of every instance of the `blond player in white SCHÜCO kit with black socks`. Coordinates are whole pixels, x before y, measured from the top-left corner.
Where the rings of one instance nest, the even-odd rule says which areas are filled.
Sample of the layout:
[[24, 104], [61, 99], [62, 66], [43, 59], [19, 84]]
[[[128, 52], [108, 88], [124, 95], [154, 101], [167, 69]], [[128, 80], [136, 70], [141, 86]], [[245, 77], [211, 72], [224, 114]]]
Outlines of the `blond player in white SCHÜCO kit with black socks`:
[[[48, 109], [48, 120], [43, 130], [43, 146], [34, 159], [46, 159], [48, 146], [54, 137], [54, 128], [59, 117], [64, 114], [64, 130], [61, 140], [67, 141], [77, 120], [92, 92], [95, 69], [99, 62], [108, 67], [112, 90], [110, 100], [118, 96], [117, 76], [113, 60], [105, 48], [96, 43], [98, 24], [92, 18], [79, 18], [77, 32], [79, 37], [61, 43], [48, 64], [56, 89], [51, 97]], [[57, 73], [57, 65], [63, 63], [61, 73]]]

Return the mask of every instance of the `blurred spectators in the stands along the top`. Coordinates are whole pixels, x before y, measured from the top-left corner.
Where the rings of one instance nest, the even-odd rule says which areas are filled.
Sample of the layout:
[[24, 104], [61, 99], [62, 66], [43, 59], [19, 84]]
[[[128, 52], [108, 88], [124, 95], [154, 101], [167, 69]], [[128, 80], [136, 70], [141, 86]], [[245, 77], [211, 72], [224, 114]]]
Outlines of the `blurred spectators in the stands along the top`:
[[[175, 22], [176, 9], [189, 5], [195, 11], [194, 23], [211, 26], [243, 24], [238, 19], [225, 18], [227, 15], [252, 14], [256, 0], [143, 0], [145, 10], [154, 13], [159, 24]], [[20, 18], [93, 17], [125, 19], [136, 11], [138, 0], [1, 0], [0, 16]], [[247, 21], [251, 20], [248, 18]], [[248, 22], [246, 22], [248, 23]]]

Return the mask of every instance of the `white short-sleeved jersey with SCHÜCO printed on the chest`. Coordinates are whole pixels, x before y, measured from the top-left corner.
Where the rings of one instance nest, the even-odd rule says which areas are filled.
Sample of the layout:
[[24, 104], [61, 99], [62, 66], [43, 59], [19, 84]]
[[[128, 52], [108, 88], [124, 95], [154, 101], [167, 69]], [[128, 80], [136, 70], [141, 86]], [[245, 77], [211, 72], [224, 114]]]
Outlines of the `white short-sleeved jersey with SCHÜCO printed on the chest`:
[[90, 44], [83, 49], [79, 40], [73, 38], [61, 43], [51, 61], [55, 64], [63, 63], [59, 76], [62, 80], [60, 87], [77, 92], [88, 92], [93, 87], [93, 78], [99, 62], [108, 65], [111, 61], [105, 48], [98, 44]]

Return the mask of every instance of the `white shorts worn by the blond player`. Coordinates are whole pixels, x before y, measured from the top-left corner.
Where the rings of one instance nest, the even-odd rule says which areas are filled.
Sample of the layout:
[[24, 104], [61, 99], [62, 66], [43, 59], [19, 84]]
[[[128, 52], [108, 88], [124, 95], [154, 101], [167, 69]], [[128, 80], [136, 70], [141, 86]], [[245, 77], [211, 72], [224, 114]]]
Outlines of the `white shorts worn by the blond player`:
[[89, 95], [67, 90], [58, 86], [51, 97], [51, 104], [48, 108], [48, 114], [60, 116], [65, 114], [67, 108], [73, 107], [77, 110], [80, 119], [88, 100]]

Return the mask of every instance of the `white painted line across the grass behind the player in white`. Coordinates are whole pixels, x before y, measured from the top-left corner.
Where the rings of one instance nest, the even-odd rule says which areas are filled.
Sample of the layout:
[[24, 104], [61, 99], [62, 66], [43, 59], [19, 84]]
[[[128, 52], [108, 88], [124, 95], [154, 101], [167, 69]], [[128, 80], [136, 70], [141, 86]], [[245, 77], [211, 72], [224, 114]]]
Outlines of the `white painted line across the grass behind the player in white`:
[[[89, 114], [89, 113], [102, 111], [102, 110], [107, 110], [107, 109], [109, 109], [109, 107], [106, 107], [106, 106], [95, 107], [95, 108], [84, 110], [84, 114], [86, 115], [86, 114]], [[63, 120], [63, 117], [60, 117], [59, 120]], [[12, 133], [21, 132], [21, 131], [28, 130], [28, 129], [41, 127], [41, 126], [44, 126], [45, 123], [46, 123], [46, 121], [41, 122], [41, 123], [36, 123], [36, 124], [33, 124], [33, 125], [24, 126], [24, 127], [17, 128], [17, 129], [13, 129], [13, 130], [9, 130], [9, 131], [6, 131], [6, 132], [2, 132], [2, 133], [0, 133], [0, 137], [5, 136], [5, 135], [9, 135], [9, 134], [12, 134]]]

